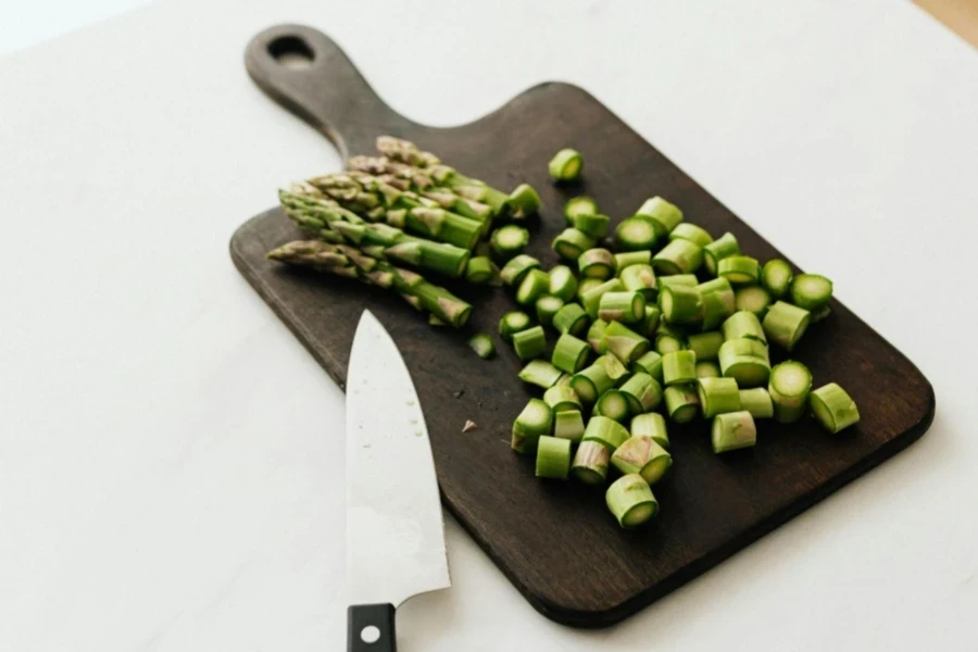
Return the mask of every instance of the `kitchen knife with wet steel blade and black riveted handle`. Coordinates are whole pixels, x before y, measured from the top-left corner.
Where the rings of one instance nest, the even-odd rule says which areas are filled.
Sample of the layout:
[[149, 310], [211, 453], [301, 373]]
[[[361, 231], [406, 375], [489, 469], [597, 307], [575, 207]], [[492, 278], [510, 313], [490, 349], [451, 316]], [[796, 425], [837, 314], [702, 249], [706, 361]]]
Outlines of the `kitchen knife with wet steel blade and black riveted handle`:
[[451, 586], [428, 428], [411, 374], [364, 311], [347, 374], [349, 652], [396, 652], [394, 610]]

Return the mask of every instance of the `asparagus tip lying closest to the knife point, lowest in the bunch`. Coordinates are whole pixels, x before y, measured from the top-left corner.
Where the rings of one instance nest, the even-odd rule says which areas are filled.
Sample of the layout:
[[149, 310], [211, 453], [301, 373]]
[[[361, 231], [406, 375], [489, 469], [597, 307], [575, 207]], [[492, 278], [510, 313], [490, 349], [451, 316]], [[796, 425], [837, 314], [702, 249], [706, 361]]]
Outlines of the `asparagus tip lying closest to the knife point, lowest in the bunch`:
[[[381, 274], [365, 273], [356, 268], [355, 265], [350, 266], [329, 266], [323, 265], [323, 255], [325, 253], [336, 253], [337, 246], [328, 244], [317, 240], [299, 240], [289, 242], [271, 252], [267, 256], [272, 260], [279, 261], [289, 265], [310, 267], [319, 272], [327, 272], [348, 278], [359, 278], [364, 283], [371, 283], [385, 287], [386, 279], [390, 280], [387, 287], [393, 287], [402, 294], [416, 297], [422, 306], [447, 324], [451, 324], [455, 328], [460, 328], [468, 322], [472, 313], [472, 305], [462, 301], [444, 288], [431, 285], [417, 274], [399, 269], [387, 263], [377, 263], [377, 269]], [[327, 248], [331, 248], [327, 250]], [[330, 256], [331, 258], [331, 256]], [[367, 258], [367, 256], [364, 256]], [[372, 259], [373, 260], [373, 259]]]

